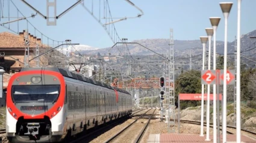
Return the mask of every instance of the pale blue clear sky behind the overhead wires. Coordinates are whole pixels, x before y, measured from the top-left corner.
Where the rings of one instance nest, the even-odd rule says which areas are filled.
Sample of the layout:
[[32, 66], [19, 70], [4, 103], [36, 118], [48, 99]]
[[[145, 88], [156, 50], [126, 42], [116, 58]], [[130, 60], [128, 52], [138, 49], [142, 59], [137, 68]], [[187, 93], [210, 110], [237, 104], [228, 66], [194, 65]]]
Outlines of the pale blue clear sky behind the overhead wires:
[[[20, 0], [12, 1], [25, 16], [35, 13]], [[95, 11], [96, 17], [99, 16], [99, 1], [93, 1], [93, 10]], [[147, 38], [169, 38], [169, 29], [173, 28], [173, 37], [175, 40], [199, 40], [200, 36], [206, 35], [205, 28], [211, 27], [209, 17], [221, 17], [222, 19], [217, 28], [217, 40], [224, 40], [224, 19], [219, 6], [219, 2], [223, 1], [131, 1], [143, 10], [144, 15], [140, 18], [127, 19], [115, 23], [120, 38], [128, 38], [128, 41]], [[7, 8], [8, 1], [5, 0], [4, 4], [3, 0], [1, 2], [4, 8]], [[46, 1], [27, 0], [27, 2], [46, 15]], [[57, 15], [75, 2], [75, 0], [58, 0]], [[113, 17], [133, 17], [140, 13], [140, 11], [136, 10], [136, 8], [132, 7], [125, 0], [108, 0], [108, 2]], [[233, 41], [237, 34], [237, 1], [231, 0], [230, 2], [234, 2], [234, 4], [228, 19], [228, 41]], [[92, 0], [85, 0], [84, 2], [90, 9], [92, 8], [91, 3]], [[101, 0], [101, 7], [103, 7], [102, 5], [103, 0]], [[255, 0], [242, 1], [242, 34], [256, 29], [255, 7]], [[10, 6], [10, 8], [16, 10], [13, 6]], [[14, 14], [13, 16], [16, 13], [17, 11], [11, 11], [11, 14]], [[1, 13], [1, 16], [2, 14], [8, 16], [8, 11], [4, 9], [4, 13]], [[64, 14], [63, 17], [60, 17], [57, 20], [57, 26], [47, 26], [46, 20], [41, 16], [36, 16], [34, 19], [30, 18], [28, 20], [43, 34], [54, 40], [63, 41], [70, 39], [72, 43], [87, 44], [99, 48], [113, 46], [113, 42], [108, 37], [104, 28], [81, 5], [77, 5], [68, 13]], [[1, 19], [0, 23], [2, 22], [3, 19]], [[20, 21], [19, 31], [26, 28], [26, 24], [22, 24]], [[10, 29], [17, 29], [17, 23], [13, 23]], [[30, 28], [28, 29], [30, 30]], [[0, 27], [0, 31], [8, 31], [8, 29]], [[30, 31], [34, 30], [32, 29]], [[33, 34], [33, 32], [31, 33]]]

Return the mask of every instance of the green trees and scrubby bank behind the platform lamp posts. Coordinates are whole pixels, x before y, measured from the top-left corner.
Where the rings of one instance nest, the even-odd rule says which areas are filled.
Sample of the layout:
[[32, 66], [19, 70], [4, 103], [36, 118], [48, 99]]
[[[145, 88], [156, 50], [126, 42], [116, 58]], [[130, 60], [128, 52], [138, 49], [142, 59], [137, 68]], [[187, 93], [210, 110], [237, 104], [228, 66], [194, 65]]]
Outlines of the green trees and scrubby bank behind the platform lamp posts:
[[[217, 57], [217, 69], [223, 69], [223, 56]], [[233, 61], [228, 61], [228, 69], [234, 69]], [[178, 77], [175, 77], [175, 105], [178, 105], [178, 94], [180, 93], [201, 93], [201, 71], [190, 70], [181, 71]], [[223, 85], [219, 86], [220, 93], [223, 93]], [[213, 93], [212, 86], [210, 93]], [[246, 68], [241, 64], [241, 121], [242, 126], [256, 127], [255, 121], [248, 123], [248, 119], [256, 117], [256, 68]], [[212, 101], [210, 104], [212, 105]], [[180, 109], [193, 110], [201, 106], [201, 101], [180, 101]], [[227, 86], [227, 116], [230, 122], [234, 121], [234, 85]], [[222, 107], [220, 105], [220, 112]], [[213, 114], [213, 109], [210, 109]], [[252, 119], [254, 120], [254, 119]], [[247, 125], [244, 123], [246, 122]], [[250, 125], [249, 125], [250, 124]]]

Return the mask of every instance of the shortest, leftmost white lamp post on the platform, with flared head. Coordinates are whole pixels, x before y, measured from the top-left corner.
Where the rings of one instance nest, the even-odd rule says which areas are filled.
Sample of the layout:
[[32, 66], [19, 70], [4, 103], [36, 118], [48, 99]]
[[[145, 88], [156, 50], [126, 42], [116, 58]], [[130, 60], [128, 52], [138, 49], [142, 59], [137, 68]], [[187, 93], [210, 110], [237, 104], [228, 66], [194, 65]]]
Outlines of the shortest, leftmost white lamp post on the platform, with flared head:
[[[205, 45], [208, 41], [208, 37], [200, 37], [202, 43], [202, 70], [204, 70], [204, 57], [205, 57]], [[204, 84], [202, 84], [202, 100], [201, 100], [201, 133], [200, 136], [204, 136]]]

